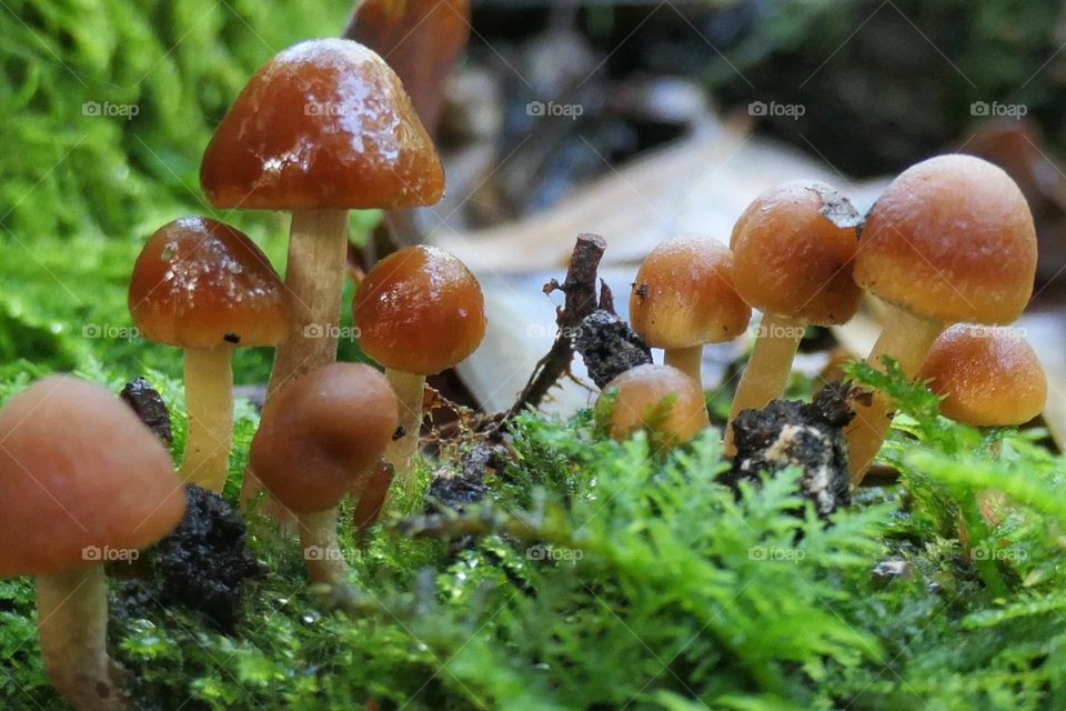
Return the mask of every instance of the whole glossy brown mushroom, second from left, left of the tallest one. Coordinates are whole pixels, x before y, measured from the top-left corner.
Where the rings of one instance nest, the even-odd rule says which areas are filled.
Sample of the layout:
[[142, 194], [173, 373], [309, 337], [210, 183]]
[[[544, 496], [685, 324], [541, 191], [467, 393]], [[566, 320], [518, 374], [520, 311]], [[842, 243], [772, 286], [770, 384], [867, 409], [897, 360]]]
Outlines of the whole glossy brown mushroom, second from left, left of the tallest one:
[[210, 218], [161, 227], [130, 280], [130, 313], [153, 341], [184, 349], [187, 482], [221, 491], [233, 439], [233, 349], [289, 336], [289, 302], [266, 256], [243, 232]]

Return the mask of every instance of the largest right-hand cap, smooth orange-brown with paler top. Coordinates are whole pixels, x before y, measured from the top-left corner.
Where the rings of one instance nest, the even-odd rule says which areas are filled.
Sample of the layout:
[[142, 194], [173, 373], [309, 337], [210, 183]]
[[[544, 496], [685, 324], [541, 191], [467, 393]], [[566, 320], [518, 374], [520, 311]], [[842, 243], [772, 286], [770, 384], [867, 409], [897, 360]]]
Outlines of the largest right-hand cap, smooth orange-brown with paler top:
[[945, 323], [1009, 323], [1033, 293], [1036, 232], [1009, 176], [972, 156], [938, 156], [892, 181], [866, 218], [855, 280]]

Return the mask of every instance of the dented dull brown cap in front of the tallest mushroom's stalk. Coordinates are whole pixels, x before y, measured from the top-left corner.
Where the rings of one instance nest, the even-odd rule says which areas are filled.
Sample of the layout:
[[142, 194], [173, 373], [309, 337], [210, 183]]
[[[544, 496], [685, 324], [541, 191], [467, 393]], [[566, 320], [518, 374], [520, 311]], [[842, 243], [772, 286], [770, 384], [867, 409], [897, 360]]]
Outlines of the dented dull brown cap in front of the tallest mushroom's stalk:
[[370, 365], [331, 363], [266, 405], [250, 461], [283, 505], [296, 513], [324, 511], [378, 463], [399, 425], [396, 397], [384, 375]]

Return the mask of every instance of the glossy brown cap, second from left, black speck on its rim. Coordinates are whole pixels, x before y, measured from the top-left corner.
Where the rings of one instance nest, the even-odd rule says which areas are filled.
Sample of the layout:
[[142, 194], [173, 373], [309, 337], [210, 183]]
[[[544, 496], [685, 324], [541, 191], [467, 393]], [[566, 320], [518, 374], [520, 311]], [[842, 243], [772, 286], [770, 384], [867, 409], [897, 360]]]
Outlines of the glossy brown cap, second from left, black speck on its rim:
[[180, 348], [276, 346], [285, 287], [243, 232], [210, 218], [161, 227], [133, 266], [130, 313], [145, 338]]

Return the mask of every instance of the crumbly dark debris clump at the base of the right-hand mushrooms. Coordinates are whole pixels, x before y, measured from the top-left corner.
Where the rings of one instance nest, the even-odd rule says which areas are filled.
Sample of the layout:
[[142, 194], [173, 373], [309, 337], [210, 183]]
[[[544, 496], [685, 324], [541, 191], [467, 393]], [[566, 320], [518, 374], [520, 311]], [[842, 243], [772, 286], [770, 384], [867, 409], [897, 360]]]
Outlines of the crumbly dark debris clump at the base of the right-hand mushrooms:
[[855, 417], [846, 383], [826, 385], [813, 402], [774, 400], [763, 410], [744, 410], [733, 423], [737, 453], [730, 483], [758, 481], [758, 472], [803, 469], [800, 489], [822, 518], [851, 501], [847, 448], [842, 429]]

